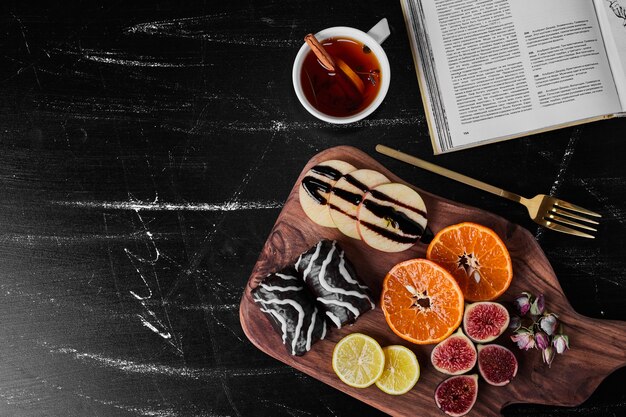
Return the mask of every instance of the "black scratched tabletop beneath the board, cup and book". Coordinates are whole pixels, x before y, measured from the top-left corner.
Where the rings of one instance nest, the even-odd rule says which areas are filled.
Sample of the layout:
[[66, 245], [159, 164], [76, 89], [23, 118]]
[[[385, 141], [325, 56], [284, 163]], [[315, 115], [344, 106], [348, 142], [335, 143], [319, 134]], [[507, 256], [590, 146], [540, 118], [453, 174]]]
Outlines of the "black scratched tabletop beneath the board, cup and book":
[[[626, 120], [433, 157], [398, 2], [182, 3], [0, 6], [1, 416], [380, 415], [261, 353], [239, 324], [295, 178], [340, 144], [601, 212], [596, 240], [539, 232], [521, 206], [374, 155], [529, 228], [576, 310], [626, 319]], [[303, 36], [382, 17], [383, 105], [350, 126], [313, 119], [291, 86]], [[579, 407], [504, 415], [624, 415], [625, 383], [622, 369]]]

